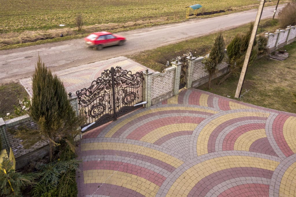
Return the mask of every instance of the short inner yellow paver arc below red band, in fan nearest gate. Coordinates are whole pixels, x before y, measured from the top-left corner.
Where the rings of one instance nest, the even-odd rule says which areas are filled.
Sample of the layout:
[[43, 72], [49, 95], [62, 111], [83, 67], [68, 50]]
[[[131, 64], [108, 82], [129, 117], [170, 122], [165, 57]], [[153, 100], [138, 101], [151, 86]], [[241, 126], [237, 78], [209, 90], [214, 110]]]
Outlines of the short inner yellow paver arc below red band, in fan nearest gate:
[[146, 141], [153, 144], [161, 137], [166, 136], [170, 133], [175, 133], [178, 131], [193, 131], [197, 127], [197, 125], [198, 124], [193, 123], [179, 123], [162, 126], [147, 133], [140, 139], [140, 141]]

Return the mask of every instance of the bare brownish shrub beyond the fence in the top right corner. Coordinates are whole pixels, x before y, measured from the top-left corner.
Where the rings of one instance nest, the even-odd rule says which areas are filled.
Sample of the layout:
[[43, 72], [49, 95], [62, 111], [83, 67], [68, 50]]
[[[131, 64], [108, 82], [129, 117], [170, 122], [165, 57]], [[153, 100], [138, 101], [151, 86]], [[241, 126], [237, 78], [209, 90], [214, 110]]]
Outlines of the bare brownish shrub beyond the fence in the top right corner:
[[296, 1], [288, 3], [279, 12], [278, 19], [281, 28], [286, 28], [289, 25], [296, 25]]

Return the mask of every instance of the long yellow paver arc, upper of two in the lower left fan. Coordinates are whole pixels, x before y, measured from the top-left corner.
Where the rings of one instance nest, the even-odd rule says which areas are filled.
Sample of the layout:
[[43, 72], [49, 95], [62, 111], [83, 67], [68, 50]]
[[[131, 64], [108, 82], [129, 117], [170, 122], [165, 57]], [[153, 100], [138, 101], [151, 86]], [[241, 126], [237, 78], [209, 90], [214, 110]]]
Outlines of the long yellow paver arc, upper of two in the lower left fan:
[[[126, 147], [125, 147], [126, 146]], [[85, 143], [81, 145], [81, 151], [87, 151], [87, 150], [118, 150], [118, 151], [128, 151], [138, 154], [144, 154], [149, 157], [158, 159], [160, 161], [163, 161], [173, 167], [179, 167], [184, 162], [182, 162], [180, 159], [177, 159], [169, 154], [165, 154], [163, 152], [139, 146], [134, 144], [123, 144], [123, 143], [115, 143], [115, 142], [96, 142], [96, 143]], [[169, 162], [168, 160], [171, 159]]]

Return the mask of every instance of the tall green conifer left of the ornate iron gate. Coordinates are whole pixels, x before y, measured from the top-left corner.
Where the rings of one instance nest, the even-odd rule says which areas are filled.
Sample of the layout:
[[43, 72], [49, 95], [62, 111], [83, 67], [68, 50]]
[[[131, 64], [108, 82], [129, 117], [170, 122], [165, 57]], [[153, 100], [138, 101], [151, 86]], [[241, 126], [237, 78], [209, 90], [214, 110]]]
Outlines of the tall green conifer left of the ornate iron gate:
[[30, 117], [37, 123], [38, 129], [23, 128], [17, 131], [17, 137], [23, 139], [25, 148], [38, 141], [49, 143], [50, 160], [54, 146], [58, 146], [61, 140], [66, 141], [74, 151], [73, 138], [80, 133], [78, 128], [85, 118], [76, 115], [61, 80], [56, 74], [52, 75], [40, 56], [32, 78], [32, 89]]

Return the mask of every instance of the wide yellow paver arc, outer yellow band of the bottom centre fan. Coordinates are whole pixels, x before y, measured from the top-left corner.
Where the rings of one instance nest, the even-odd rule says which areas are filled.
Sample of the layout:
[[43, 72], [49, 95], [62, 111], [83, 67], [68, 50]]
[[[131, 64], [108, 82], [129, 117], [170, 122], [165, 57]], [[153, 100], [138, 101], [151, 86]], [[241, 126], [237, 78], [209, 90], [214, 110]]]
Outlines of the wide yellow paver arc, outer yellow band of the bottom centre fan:
[[[227, 162], [226, 162], [227, 159]], [[236, 161], [242, 161], [242, 164], [236, 164], [234, 165], [233, 163]], [[225, 165], [225, 163], [227, 165]], [[224, 156], [224, 157], [216, 157], [213, 159], [209, 159], [207, 161], [201, 162], [197, 165], [192, 166], [188, 170], [186, 170], [182, 175], [179, 176], [179, 178], [173, 183], [171, 186], [168, 194], [172, 193], [177, 193], [176, 188], [177, 185], [180, 185], [182, 188], [185, 187], [186, 191], [191, 191], [193, 186], [196, 185], [200, 180], [205, 178], [206, 176], [209, 175], [208, 170], [211, 169], [212, 172], [217, 172], [218, 167], [220, 167], [222, 170], [228, 169], [228, 168], [233, 168], [233, 167], [258, 167], [259, 163], [263, 163], [264, 165], [262, 166], [263, 169], [266, 170], [272, 170], [274, 171], [276, 167], [279, 165], [279, 162], [268, 160], [268, 159], [262, 159], [262, 158], [257, 158], [257, 157], [250, 157], [250, 156]], [[220, 169], [219, 168], [219, 169]], [[197, 175], [197, 178], [192, 180], [189, 177], [186, 177], [186, 174], [193, 173]], [[184, 182], [185, 181], [185, 182]], [[191, 184], [193, 183], [193, 184]], [[188, 193], [182, 193], [182, 195], [187, 196]]]

